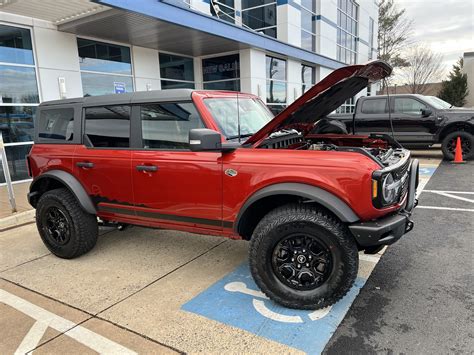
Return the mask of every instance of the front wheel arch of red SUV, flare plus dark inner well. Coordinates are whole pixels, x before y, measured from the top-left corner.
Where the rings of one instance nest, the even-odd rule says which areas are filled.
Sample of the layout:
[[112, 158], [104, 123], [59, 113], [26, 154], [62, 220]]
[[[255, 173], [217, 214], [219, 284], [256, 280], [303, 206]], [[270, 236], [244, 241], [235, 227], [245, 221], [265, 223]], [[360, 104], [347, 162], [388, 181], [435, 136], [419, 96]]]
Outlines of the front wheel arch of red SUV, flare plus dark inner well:
[[302, 183], [281, 183], [264, 187], [247, 199], [235, 220], [235, 232], [249, 240], [264, 215], [276, 207], [292, 202], [318, 205], [344, 223], [359, 220], [343, 200], [326, 190]]

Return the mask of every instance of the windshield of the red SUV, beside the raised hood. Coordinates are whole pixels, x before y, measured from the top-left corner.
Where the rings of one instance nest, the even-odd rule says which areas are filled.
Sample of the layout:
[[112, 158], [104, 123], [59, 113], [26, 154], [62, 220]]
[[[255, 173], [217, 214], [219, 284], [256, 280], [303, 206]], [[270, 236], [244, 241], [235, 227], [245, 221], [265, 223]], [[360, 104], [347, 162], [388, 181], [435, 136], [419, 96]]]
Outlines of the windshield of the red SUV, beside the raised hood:
[[240, 136], [249, 137], [273, 119], [270, 110], [258, 99], [214, 98], [205, 99], [204, 103], [227, 139], [239, 137], [239, 121]]

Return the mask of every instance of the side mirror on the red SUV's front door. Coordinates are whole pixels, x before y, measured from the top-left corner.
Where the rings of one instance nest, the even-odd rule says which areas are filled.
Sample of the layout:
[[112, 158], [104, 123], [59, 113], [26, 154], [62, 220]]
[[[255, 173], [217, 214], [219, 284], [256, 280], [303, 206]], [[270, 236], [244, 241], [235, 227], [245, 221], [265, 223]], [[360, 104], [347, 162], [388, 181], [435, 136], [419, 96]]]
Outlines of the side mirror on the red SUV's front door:
[[233, 152], [240, 148], [236, 142], [221, 142], [221, 134], [208, 128], [193, 128], [189, 130], [189, 149], [192, 152]]

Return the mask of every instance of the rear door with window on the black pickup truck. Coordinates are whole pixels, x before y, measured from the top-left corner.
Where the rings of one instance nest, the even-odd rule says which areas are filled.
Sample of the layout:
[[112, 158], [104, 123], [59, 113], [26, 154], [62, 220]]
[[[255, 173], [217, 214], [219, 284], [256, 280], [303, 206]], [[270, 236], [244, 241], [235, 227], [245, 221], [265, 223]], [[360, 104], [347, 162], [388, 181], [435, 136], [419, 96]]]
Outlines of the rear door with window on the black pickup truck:
[[356, 134], [388, 133], [388, 105], [385, 97], [362, 99], [360, 111], [356, 113]]

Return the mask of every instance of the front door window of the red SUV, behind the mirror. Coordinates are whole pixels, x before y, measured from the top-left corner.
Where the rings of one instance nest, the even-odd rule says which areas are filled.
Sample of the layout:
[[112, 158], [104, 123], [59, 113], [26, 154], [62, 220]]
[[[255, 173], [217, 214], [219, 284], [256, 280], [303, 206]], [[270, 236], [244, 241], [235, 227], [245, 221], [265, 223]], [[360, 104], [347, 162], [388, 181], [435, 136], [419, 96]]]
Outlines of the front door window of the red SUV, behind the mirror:
[[204, 128], [191, 102], [141, 106], [143, 147], [189, 149], [189, 130]]

